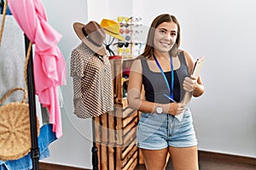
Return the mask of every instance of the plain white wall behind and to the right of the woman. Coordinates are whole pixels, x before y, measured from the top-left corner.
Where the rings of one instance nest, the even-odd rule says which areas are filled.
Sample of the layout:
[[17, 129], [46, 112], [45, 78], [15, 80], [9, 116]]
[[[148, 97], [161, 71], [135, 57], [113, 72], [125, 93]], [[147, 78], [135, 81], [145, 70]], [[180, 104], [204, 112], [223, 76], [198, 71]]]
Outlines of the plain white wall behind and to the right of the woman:
[[146, 2], [144, 20], [164, 12], [176, 15], [182, 48], [195, 58], [206, 56], [206, 93], [191, 105], [199, 149], [256, 157], [256, 2], [161, 0], [159, 9]]

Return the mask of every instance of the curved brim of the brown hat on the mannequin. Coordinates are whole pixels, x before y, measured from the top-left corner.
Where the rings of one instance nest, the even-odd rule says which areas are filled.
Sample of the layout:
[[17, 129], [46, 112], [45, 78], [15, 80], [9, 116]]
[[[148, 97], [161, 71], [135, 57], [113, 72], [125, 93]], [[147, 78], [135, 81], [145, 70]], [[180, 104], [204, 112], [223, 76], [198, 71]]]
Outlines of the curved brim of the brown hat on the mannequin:
[[84, 44], [87, 45], [88, 48], [90, 48], [96, 54], [106, 55], [107, 54], [106, 48], [102, 44], [99, 47], [97, 47], [92, 42], [90, 42], [90, 40], [88, 40], [87, 37], [84, 36], [84, 33], [82, 31], [84, 26], [85, 26], [84, 24], [79, 23], [79, 22], [75, 22], [73, 24], [73, 29], [76, 32], [76, 34], [78, 35], [78, 37], [80, 38], [80, 40], [82, 40], [82, 42], [84, 42]]

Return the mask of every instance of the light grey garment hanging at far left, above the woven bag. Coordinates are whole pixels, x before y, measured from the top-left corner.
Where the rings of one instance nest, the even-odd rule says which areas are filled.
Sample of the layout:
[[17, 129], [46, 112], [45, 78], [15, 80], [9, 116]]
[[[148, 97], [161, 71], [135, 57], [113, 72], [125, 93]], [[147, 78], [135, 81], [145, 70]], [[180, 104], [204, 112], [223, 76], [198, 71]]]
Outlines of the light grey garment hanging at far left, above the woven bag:
[[[0, 23], [2, 19], [3, 15], [0, 15]], [[23, 32], [15, 18], [6, 15], [0, 47], [0, 98], [11, 88], [26, 88], [23, 74], [25, 59]], [[22, 93], [11, 94], [5, 103], [20, 101], [22, 97]]]

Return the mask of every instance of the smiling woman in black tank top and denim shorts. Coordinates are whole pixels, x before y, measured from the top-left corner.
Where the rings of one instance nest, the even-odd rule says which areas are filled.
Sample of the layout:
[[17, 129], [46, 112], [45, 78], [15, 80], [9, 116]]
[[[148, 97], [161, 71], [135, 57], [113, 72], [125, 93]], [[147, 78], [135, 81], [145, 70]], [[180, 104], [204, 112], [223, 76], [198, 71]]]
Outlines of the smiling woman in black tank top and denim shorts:
[[[198, 169], [192, 117], [182, 101], [185, 92], [198, 97], [204, 87], [201, 77], [190, 76], [195, 61], [178, 49], [180, 41], [177, 19], [160, 14], [149, 28], [143, 54], [131, 65], [128, 101], [131, 108], [141, 111], [137, 146], [148, 170], [165, 169], [168, 153], [175, 170]], [[181, 113], [179, 121], [176, 116]]]

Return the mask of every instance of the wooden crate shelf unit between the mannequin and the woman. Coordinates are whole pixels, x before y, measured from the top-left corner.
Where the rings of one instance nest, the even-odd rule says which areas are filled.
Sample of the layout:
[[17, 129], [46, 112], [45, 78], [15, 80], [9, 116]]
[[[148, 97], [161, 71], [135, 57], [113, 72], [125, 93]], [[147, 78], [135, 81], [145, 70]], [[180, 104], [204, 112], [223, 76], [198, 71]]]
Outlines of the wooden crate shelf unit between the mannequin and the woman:
[[95, 117], [96, 146], [99, 170], [132, 170], [139, 161], [136, 145], [138, 112], [128, 107], [124, 97], [128, 77], [124, 68], [134, 59], [111, 59], [114, 110]]

